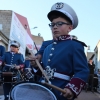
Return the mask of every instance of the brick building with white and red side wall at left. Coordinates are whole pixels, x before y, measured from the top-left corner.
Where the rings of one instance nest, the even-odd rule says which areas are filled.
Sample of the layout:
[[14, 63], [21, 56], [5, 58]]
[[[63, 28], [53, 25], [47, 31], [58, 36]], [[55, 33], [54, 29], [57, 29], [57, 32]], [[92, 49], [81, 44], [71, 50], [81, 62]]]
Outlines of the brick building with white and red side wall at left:
[[43, 41], [40, 36], [32, 36], [26, 17], [11, 10], [0, 10], [0, 31], [0, 44], [9, 51], [9, 42], [18, 41], [21, 44], [19, 51], [24, 57], [27, 50], [36, 52], [35, 47], [40, 48]]

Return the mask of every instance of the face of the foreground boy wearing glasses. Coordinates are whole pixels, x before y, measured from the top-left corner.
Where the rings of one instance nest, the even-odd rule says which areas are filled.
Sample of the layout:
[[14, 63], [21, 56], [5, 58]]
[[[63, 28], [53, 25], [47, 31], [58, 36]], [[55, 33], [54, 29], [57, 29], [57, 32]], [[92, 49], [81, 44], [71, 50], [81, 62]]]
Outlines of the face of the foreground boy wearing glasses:
[[[64, 22], [68, 23], [64, 18], [58, 17], [52, 21], [52, 23]], [[69, 23], [68, 23], [69, 24]], [[62, 24], [62, 25], [54, 25], [51, 28], [53, 37], [59, 37], [61, 35], [68, 35], [68, 33], [72, 30], [72, 25]]]

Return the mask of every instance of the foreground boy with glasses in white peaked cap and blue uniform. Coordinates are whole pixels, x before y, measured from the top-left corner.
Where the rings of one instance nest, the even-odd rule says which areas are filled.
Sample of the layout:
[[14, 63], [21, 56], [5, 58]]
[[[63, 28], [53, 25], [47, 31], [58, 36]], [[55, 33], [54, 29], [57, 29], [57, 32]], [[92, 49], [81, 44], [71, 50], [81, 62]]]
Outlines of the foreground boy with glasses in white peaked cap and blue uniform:
[[59, 100], [74, 100], [85, 86], [89, 68], [84, 53], [85, 43], [72, 39], [69, 32], [78, 25], [75, 11], [65, 3], [55, 3], [48, 13], [52, 34], [56, 39], [46, 43], [37, 54], [42, 59], [43, 67], [56, 69], [50, 81], [53, 85], [63, 88], [65, 94], [57, 90], [54, 93]]

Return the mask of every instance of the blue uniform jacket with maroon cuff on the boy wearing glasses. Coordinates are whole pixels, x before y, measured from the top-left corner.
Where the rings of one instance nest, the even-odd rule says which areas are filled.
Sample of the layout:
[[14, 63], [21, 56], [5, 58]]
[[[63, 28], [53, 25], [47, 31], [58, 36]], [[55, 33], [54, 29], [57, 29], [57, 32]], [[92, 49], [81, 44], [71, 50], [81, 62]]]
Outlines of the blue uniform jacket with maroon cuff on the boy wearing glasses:
[[[71, 76], [70, 81], [54, 78], [50, 80], [51, 83], [62, 89], [64, 87], [69, 88], [76, 97], [87, 82], [89, 75], [84, 43], [67, 39], [48, 42], [47, 44], [48, 46], [43, 50], [43, 67], [50, 66], [51, 69], [55, 68], [58, 73]], [[59, 91], [54, 91], [60, 100], [67, 100], [60, 95]]]

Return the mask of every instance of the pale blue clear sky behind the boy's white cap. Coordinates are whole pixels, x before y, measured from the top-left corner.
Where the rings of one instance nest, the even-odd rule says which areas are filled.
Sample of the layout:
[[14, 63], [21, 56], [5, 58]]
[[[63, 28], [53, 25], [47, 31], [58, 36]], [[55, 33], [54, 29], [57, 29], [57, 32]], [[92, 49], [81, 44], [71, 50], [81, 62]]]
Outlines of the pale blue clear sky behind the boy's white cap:
[[67, 3], [75, 10], [79, 24], [70, 35], [77, 36], [93, 51], [100, 40], [100, 0], [0, 0], [0, 10], [12, 10], [26, 17], [32, 34], [40, 33], [44, 40], [50, 40], [47, 14], [56, 2]]

